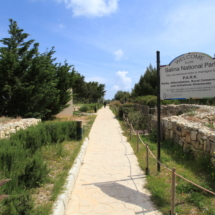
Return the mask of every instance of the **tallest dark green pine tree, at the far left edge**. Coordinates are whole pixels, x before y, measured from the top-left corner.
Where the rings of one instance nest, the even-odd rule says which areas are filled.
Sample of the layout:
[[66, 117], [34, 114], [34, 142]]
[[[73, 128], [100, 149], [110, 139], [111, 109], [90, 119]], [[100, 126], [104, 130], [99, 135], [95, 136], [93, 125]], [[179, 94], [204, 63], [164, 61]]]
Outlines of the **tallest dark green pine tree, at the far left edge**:
[[23, 29], [19, 29], [12, 19], [8, 32], [11, 37], [0, 40], [4, 45], [0, 47], [0, 113], [11, 116], [20, 112], [19, 96], [24, 87], [23, 79], [32, 58], [38, 53], [39, 44], [34, 43], [34, 40], [24, 42], [29, 35], [23, 33]]

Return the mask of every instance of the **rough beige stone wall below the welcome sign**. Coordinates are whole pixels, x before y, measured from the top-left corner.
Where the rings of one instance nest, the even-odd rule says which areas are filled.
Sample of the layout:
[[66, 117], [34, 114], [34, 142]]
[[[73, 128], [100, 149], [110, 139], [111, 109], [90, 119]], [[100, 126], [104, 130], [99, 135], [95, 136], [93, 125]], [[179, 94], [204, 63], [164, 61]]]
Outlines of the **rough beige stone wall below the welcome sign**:
[[183, 114], [163, 118], [163, 136], [164, 139], [173, 139], [183, 147], [184, 152], [195, 149], [210, 154], [215, 167], [215, 129], [205, 126], [205, 123], [214, 125], [211, 119], [215, 116], [215, 108], [209, 106], [200, 108], [204, 108], [205, 111], [196, 111], [194, 116]]

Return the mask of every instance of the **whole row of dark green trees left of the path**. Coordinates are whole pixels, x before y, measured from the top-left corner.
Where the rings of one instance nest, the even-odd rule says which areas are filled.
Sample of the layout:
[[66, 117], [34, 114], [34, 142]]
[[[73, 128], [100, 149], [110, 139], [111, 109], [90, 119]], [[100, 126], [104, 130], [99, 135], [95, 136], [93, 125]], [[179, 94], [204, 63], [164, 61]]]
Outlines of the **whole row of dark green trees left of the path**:
[[54, 48], [40, 53], [39, 43], [9, 21], [10, 37], [0, 40], [0, 116], [49, 119], [72, 97], [88, 102], [104, 97], [104, 84], [87, 83], [73, 65], [56, 63]]

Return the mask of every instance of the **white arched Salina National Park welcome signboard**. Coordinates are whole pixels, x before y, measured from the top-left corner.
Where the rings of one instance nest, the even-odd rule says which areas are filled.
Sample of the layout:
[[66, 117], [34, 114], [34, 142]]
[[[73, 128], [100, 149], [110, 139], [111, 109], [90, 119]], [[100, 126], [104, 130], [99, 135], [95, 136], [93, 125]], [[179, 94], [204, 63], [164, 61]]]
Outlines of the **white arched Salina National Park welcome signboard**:
[[161, 100], [215, 97], [215, 59], [192, 52], [160, 67]]

